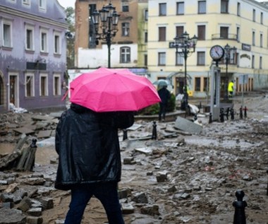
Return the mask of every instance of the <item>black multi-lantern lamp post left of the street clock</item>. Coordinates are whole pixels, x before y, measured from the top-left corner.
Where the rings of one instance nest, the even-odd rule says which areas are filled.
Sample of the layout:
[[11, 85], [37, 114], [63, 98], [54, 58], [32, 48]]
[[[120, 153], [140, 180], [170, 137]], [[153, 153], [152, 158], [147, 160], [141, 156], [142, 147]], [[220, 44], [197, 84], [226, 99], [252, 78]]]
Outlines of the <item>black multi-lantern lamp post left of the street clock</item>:
[[[181, 54], [184, 58], [184, 105], [185, 111], [188, 109], [188, 87], [187, 87], [187, 58], [195, 52], [195, 46], [197, 43], [197, 36], [189, 37], [189, 34], [185, 31], [180, 37], [176, 36], [175, 47], [176, 47], [176, 57]], [[178, 52], [181, 49], [181, 52]]]

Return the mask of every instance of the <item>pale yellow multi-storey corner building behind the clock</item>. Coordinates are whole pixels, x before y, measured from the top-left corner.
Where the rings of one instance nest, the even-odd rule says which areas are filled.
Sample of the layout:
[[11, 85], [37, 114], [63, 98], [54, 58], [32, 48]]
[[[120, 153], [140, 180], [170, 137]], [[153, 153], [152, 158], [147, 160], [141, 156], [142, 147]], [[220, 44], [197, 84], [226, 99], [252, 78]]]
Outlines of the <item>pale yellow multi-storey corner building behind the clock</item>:
[[[148, 8], [147, 65], [152, 81], [169, 78], [174, 93], [182, 93], [184, 54], [176, 54], [176, 47], [171, 46], [174, 37], [187, 32], [197, 36], [195, 52], [186, 54], [187, 85], [193, 96], [207, 94], [215, 66], [209, 54], [214, 45], [231, 47], [218, 63], [221, 95], [231, 80], [235, 93], [242, 91], [242, 86], [244, 91], [268, 87], [268, 7], [264, 4], [253, 0], [149, 0]], [[245, 78], [243, 85], [241, 78]]]

